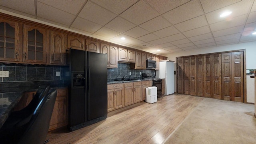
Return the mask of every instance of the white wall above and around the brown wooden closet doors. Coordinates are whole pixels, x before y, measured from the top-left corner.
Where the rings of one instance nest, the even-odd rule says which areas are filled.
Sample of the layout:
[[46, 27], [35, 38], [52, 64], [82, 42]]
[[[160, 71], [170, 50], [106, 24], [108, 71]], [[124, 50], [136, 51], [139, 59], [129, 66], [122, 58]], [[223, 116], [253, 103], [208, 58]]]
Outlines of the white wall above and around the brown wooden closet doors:
[[[232, 45], [226, 45], [226, 46], [204, 48], [200, 50], [190, 50], [186, 52], [168, 54], [165, 56], [168, 57], [167, 58], [168, 60], [172, 60], [176, 62], [176, 57], [179, 57], [179, 56], [190, 56], [190, 55], [196, 55], [196, 54], [208, 54], [213, 52], [225, 52], [230, 50], [242, 50], [242, 49], [246, 49], [246, 69], [255, 69], [256, 68], [256, 42], [245, 42], [241, 44], [232, 44]], [[176, 82], [176, 75], [174, 75], [174, 77]], [[249, 83], [252, 84], [250, 80], [249, 80]], [[248, 81], [246, 85], [249, 85]], [[254, 103], [254, 95], [251, 94], [251, 91], [254, 91], [254, 86], [250, 86], [250, 87], [247, 86], [247, 100], [249, 100], [247, 102]], [[176, 84], [175, 84], [175, 92], [176, 92]]]

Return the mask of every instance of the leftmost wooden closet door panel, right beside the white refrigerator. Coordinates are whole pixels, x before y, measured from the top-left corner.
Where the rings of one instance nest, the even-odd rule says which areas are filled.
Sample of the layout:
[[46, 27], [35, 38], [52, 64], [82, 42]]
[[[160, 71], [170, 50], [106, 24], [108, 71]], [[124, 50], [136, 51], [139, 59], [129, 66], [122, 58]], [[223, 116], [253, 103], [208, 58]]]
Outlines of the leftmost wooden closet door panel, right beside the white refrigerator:
[[[160, 57], [161, 58], [161, 57]], [[183, 94], [183, 58], [177, 58], [177, 92]]]

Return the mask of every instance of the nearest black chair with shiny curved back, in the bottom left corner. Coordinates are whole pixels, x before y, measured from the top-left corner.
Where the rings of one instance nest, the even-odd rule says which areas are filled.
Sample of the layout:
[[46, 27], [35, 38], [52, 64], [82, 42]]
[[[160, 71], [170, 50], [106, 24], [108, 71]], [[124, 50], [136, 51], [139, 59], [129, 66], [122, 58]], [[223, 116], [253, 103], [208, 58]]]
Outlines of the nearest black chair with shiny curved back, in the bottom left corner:
[[6, 132], [0, 133], [0, 143], [2, 144], [44, 144], [57, 90], [49, 92], [42, 98], [33, 112], [32, 118], [27, 124], [15, 127]]

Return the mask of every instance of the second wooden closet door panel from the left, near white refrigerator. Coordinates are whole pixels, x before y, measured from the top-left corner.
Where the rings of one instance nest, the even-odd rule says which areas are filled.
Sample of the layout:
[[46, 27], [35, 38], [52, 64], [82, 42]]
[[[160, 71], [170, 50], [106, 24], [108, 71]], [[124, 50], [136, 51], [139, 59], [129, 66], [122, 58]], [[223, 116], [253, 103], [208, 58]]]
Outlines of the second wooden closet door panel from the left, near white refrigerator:
[[189, 94], [190, 89], [189, 89], [189, 79], [190, 79], [190, 66], [189, 66], [189, 57], [188, 58], [183, 58], [184, 63], [183, 63], [183, 88], [184, 88], [184, 94]]

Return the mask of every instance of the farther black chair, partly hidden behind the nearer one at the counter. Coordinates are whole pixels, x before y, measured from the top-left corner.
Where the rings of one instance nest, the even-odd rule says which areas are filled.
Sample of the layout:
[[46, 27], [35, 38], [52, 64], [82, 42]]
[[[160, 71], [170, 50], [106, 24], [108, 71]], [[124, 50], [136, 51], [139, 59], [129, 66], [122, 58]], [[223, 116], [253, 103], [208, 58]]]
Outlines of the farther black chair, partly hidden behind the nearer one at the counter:
[[42, 100], [42, 98], [48, 94], [49, 90], [49, 85], [45, 84], [40, 86], [36, 91], [34, 98], [31, 100], [28, 106], [26, 106], [22, 110], [12, 112], [10, 116], [7, 118], [4, 125], [2, 126], [1, 130], [9, 129], [14, 126], [22, 126], [28, 123], [28, 121], [33, 115], [36, 106], [38, 106], [38, 103]]

